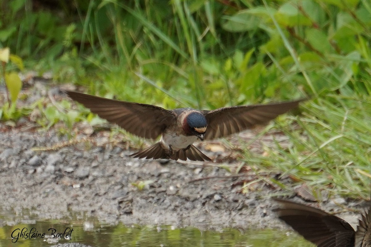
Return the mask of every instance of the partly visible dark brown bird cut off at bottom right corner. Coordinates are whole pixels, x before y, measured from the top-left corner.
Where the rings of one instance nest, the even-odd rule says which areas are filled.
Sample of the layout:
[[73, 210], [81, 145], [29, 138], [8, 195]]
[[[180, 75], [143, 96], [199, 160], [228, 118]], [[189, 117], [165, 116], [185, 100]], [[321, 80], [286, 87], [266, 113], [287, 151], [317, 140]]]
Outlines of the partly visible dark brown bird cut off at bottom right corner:
[[357, 231], [332, 214], [303, 204], [275, 199], [278, 217], [318, 247], [371, 247], [371, 207], [362, 214]]

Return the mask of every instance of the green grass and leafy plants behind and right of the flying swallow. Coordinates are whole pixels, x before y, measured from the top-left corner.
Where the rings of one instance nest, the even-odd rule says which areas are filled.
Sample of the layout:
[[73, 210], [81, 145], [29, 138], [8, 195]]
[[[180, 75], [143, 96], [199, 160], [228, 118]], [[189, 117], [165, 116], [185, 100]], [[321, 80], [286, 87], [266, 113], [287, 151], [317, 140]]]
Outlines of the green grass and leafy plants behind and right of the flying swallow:
[[[309, 96], [302, 116], [270, 126], [292, 145], [277, 141], [264, 156], [246, 147], [246, 165], [282, 171], [330, 194], [370, 198], [367, 0], [75, 3], [50, 9], [4, 1], [1, 45], [27, 68], [52, 70], [61, 83], [165, 108]], [[47, 120], [50, 127], [58, 117]]]

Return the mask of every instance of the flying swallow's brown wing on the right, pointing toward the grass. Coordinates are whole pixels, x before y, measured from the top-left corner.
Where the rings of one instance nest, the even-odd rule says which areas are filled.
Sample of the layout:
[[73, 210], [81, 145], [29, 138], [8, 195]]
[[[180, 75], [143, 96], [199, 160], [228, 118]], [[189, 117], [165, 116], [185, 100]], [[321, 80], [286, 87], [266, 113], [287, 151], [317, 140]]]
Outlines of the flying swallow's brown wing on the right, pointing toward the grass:
[[212, 111], [201, 111], [207, 120], [205, 140], [226, 137], [257, 124], [266, 123], [278, 115], [298, 107], [305, 99], [250, 106], [224, 107]]

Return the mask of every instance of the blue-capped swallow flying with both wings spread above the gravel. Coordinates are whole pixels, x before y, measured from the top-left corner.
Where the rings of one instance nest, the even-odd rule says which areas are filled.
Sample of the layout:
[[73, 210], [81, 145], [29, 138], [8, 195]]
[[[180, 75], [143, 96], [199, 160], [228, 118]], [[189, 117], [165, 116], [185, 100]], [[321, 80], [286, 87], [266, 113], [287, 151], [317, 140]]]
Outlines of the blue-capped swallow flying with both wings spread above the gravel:
[[165, 110], [149, 104], [110, 100], [72, 91], [66, 93], [99, 117], [118, 124], [131, 134], [149, 139], [161, 135], [158, 143], [132, 156], [198, 161], [211, 159], [192, 145], [197, 139], [225, 137], [266, 123], [302, 101], [233, 106], [212, 111], [191, 108]]

